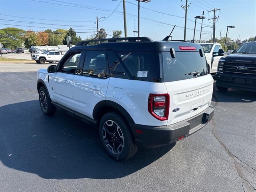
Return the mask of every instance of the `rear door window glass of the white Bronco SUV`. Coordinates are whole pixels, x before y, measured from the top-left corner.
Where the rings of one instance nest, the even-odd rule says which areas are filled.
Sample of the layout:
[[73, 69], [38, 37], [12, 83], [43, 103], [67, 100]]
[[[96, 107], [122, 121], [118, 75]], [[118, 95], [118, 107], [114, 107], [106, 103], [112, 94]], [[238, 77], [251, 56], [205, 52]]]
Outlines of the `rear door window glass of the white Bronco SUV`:
[[107, 61], [105, 51], [87, 51], [84, 59], [83, 75], [93, 77], [106, 77]]

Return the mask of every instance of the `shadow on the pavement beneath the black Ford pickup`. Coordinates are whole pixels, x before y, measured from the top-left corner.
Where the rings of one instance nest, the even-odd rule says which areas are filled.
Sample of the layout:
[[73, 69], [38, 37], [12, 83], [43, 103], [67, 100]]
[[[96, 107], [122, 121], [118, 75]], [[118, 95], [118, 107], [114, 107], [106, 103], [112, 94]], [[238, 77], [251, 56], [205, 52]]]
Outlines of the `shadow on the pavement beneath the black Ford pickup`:
[[232, 102], [232, 103], [256, 102], [256, 92], [249, 92], [249, 91], [236, 90], [236, 89], [228, 89], [227, 91], [218, 91], [214, 86], [212, 101]]

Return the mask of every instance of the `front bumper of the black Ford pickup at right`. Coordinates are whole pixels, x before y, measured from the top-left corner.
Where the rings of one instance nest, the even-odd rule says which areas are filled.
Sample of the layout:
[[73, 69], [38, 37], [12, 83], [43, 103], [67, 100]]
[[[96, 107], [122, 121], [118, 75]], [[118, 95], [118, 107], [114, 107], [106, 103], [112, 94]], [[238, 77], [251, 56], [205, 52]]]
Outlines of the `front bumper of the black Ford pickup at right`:
[[245, 76], [243, 74], [230, 75], [217, 73], [216, 85], [226, 88], [256, 92], [256, 77]]

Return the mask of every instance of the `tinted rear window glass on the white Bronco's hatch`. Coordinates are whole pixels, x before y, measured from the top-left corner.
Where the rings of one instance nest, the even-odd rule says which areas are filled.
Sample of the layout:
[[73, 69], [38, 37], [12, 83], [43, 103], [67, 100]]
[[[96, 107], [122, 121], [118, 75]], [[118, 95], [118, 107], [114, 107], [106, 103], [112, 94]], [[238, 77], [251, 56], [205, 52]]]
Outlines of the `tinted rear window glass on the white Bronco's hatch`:
[[[176, 57], [172, 58], [170, 52], [163, 52], [164, 82], [179, 81], [204, 76], [208, 74], [205, 57], [201, 57], [199, 52], [176, 52]], [[191, 74], [190, 72], [198, 72]]]

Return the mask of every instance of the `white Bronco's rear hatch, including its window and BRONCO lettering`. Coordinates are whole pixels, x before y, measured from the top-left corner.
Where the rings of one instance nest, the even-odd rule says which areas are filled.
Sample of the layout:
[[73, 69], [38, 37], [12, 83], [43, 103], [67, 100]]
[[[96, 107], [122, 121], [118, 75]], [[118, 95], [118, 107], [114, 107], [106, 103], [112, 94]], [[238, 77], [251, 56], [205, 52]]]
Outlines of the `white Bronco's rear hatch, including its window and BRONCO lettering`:
[[208, 74], [201, 46], [174, 42], [172, 51], [163, 52], [162, 59], [163, 80], [170, 95], [167, 125], [205, 110], [212, 100], [213, 78]]

